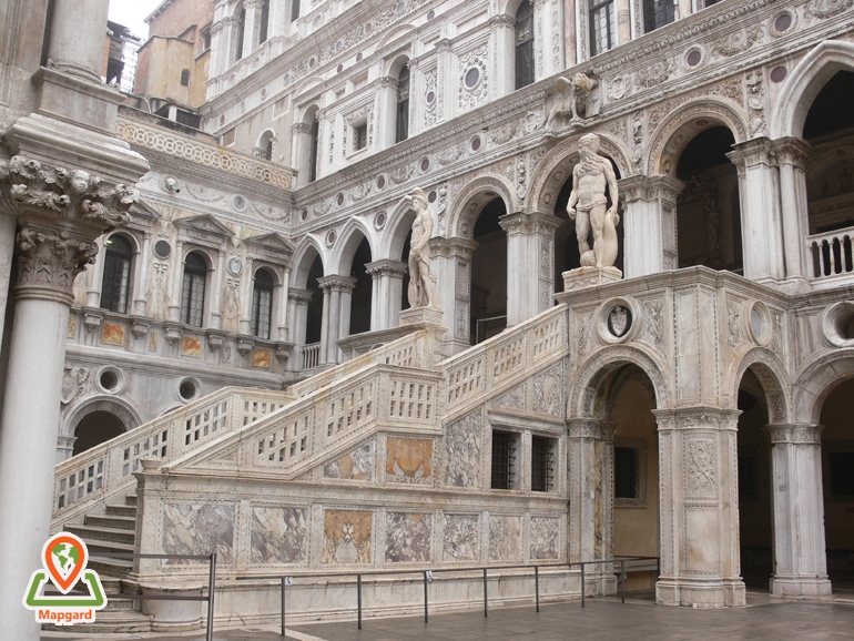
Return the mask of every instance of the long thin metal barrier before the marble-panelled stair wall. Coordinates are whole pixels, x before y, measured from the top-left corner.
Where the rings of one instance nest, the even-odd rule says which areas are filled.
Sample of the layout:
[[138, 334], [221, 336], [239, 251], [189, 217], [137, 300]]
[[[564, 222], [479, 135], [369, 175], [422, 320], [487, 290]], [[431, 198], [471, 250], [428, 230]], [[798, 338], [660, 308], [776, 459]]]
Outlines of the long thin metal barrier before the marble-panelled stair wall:
[[533, 586], [535, 586], [535, 601], [537, 612], [540, 611], [540, 568], [567, 568], [580, 567], [581, 569], [581, 607], [584, 608], [584, 566], [597, 566], [603, 563], [620, 562], [620, 576], [618, 583], [621, 586], [620, 597], [621, 601], [626, 603], [626, 576], [627, 570], [631, 571], [631, 568], [626, 567], [626, 561], [655, 561], [657, 573], [661, 573], [661, 559], [660, 557], [613, 557], [611, 559], [603, 559], [597, 561], [572, 561], [568, 563], [537, 563], [519, 564], [519, 566], [471, 566], [466, 568], [423, 568], [423, 569], [406, 569], [406, 570], [365, 570], [359, 572], [312, 572], [307, 574], [258, 574], [253, 577], [237, 577], [237, 581], [263, 581], [263, 580], [278, 580], [282, 583], [282, 637], [285, 637], [285, 587], [292, 586], [294, 579], [336, 579], [336, 578], [356, 578], [356, 608], [358, 611], [358, 629], [362, 630], [362, 577], [387, 577], [394, 574], [421, 574], [424, 581], [424, 622], [429, 622], [428, 612], [428, 590], [427, 584], [433, 580], [433, 576], [439, 572], [482, 572], [484, 573], [484, 617], [489, 615], [489, 594], [487, 587], [488, 571], [489, 570], [519, 570], [533, 568]]

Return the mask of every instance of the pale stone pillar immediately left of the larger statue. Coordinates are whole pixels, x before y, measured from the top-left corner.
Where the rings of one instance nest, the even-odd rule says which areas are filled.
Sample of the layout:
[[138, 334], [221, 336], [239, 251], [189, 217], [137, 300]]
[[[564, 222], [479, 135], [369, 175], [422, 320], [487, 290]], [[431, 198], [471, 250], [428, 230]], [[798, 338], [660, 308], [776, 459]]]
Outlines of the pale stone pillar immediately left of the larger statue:
[[507, 232], [507, 326], [510, 327], [553, 305], [555, 231], [560, 220], [540, 212], [516, 212], [501, 216], [499, 224]]

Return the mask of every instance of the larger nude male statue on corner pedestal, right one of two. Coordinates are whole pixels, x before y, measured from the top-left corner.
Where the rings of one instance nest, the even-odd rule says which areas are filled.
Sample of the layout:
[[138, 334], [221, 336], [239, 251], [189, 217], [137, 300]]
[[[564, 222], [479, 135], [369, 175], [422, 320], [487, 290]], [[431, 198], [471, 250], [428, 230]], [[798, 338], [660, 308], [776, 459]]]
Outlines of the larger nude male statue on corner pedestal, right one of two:
[[[620, 216], [617, 213], [617, 176], [610, 161], [597, 154], [599, 136], [588, 133], [578, 141], [581, 155], [572, 170], [572, 193], [567, 203], [569, 217], [576, 221], [578, 251], [581, 254], [581, 266], [612, 267], [617, 260], [617, 225]], [[611, 196], [611, 206], [604, 187]], [[607, 211], [606, 211], [607, 208]], [[593, 248], [590, 248], [588, 237], [593, 232]]]

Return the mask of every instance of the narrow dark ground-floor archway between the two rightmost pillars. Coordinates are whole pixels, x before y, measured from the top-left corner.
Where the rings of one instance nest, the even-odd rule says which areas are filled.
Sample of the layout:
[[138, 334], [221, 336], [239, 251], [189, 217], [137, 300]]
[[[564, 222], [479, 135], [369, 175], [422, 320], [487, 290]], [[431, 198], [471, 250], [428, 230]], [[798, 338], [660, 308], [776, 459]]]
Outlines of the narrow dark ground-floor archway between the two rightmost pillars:
[[739, 541], [741, 573], [752, 590], [769, 590], [774, 571], [771, 444], [765, 391], [748, 369], [739, 386]]

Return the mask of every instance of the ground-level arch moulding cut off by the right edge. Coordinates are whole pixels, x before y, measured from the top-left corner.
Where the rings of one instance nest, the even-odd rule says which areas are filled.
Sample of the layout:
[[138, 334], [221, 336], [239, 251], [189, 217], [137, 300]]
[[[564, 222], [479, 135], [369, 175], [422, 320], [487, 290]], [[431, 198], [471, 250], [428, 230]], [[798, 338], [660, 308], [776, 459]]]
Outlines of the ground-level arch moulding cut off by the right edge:
[[844, 347], [813, 359], [793, 386], [793, 420], [817, 424], [822, 405], [843, 380], [854, 378], [854, 347]]

